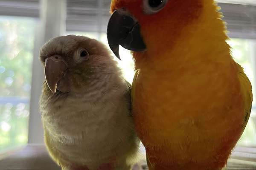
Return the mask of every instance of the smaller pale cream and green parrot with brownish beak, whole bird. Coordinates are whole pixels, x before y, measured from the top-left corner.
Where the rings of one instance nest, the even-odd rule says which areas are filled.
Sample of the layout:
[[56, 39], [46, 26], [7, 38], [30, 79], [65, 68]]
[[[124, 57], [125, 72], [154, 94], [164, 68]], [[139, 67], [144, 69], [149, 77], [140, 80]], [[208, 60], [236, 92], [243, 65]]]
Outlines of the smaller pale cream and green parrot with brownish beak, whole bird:
[[62, 170], [130, 170], [139, 156], [131, 86], [101, 42], [68, 35], [41, 48], [45, 144]]

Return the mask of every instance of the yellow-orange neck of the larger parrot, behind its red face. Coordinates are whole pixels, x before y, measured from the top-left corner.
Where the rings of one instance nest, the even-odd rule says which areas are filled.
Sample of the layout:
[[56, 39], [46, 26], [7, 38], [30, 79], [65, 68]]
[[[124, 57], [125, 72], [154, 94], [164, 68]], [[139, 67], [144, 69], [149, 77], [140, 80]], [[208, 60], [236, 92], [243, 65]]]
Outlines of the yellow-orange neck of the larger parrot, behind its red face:
[[[227, 44], [225, 23], [221, 20], [219, 7], [213, 0], [202, 0], [203, 8], [200, 17], [189, 23], [180, 31], [177, 40], [152, 42], [143, 53], [134, 53], [136, 69], [175, 70], [184, 67], [195, 67], [203, 62], [228, 64], [230, 46]], [[172, 31], [172, 30], [167, 30]], [[168, 35], [168, 34], [166, 34]], [[172, 39], [172, 37], [170, 37]], [[175, 41], [175, 42], [172, 42]], [[172, 42], [172, 43], [171, 43]]]

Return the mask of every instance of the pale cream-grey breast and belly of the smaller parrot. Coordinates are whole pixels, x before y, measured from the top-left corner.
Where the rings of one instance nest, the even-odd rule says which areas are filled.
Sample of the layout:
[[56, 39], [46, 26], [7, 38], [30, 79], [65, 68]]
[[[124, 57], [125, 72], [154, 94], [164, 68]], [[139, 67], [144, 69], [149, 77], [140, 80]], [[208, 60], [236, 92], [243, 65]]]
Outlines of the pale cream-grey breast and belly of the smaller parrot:
[[128, 87], [124, 84], [115, 89], [99, 99], [95, 96], [99, 92], [87, 96], [70, 93], [56, 102], [41, 102], [45, 142], [61, 166], [97, 170], [101, 164], [115, 164], [126, 170], [127, 161], [135, 159], [139, 141], [125, 96]]

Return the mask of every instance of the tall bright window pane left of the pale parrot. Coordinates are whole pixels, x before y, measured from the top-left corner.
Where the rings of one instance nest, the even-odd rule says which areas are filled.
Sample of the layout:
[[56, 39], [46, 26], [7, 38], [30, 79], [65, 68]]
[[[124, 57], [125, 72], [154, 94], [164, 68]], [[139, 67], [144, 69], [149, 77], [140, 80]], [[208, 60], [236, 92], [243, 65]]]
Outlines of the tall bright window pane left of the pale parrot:
[[0, 152], [27, 143], [34, 26], [0, 16]]

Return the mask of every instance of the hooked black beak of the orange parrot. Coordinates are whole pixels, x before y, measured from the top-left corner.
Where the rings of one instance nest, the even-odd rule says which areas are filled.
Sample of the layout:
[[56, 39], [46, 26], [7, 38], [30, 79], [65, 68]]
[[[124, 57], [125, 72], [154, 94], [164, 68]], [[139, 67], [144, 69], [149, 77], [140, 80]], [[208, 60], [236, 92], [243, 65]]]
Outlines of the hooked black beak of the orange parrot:
[[119, 59], [119, 45], [131, 51], [146, 50], [140, 34], [140, 24], [121, 10], [113, 12], [108, 22], [107, 37], [111, 50]]

